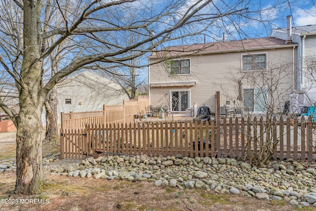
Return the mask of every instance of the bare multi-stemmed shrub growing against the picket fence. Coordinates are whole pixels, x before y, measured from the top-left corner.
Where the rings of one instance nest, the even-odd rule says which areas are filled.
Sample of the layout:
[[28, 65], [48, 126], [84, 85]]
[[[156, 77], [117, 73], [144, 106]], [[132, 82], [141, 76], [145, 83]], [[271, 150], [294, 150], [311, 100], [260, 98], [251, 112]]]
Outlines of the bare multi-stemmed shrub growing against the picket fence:
[[[254, 55], [246, 56], [253, 59]], [[236, 88], [234, 96], [230, 96], [230, 101], [234, 102], [235, 109], [242, 112], [246, 121], [244, 135], [247, 142], [242, 159], [260, 165], [272, 158], [279, 142], [273, 127], [274, 118], [277, 121], [281, 119], [283, 124], [283, 118], [288, 115], [283, 114], [283, 108], [293, 90], [293, 63], [277, 61], [275, 58], [262, 63], [262, 66], [256, 64], [256, 69], [252, 67], [249, 71], [243, 70], [234, 76], [236, 80], [233, 84], [236, 84]], [[238, 95], [239, 100], [236, 97]], [[254, 137], [253, 130], [257, 130], [259, 121], [262, 121], [262, 129]], [[258, 143], [258, 148], [254, 147], [254, 141]]]

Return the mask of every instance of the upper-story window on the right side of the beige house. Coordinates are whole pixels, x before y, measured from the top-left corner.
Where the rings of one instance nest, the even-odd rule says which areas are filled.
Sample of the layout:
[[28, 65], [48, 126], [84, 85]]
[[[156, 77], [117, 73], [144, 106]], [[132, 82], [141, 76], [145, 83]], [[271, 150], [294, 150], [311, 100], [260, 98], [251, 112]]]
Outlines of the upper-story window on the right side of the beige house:
[[266, 70], [266, 63], [267, 54], [247, 54], [242, 56], [243, 71]]

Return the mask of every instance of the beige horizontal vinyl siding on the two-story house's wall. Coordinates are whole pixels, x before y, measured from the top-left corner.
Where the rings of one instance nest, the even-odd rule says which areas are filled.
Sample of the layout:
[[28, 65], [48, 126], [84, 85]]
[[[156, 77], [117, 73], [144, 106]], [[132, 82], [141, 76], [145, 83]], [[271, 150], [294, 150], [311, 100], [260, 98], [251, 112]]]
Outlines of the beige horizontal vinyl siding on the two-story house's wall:
[[[256, 50], [249, 51], [251, 54], [267, 53], [268, 71], [271, 68], [282, 68], [279, 74], [280, 82], [277, 84], [277, 94], [273, 95], [273, 99], [277, 99], [277, 106], [284, 107], [284, 101], [289, 100], [289, 93], [292, 91], [293, 85], [293, 63], [292, 47], [278, 48], [274, 50]], [[191, 91], [191, 106], [194, 103], [197, 107], [205, 104], [215, 111], [215, 92], [220, 91], [221, 103], [226, 103], [229, 100], [231, 106], [234, 106], [234, 100], [238, 106], [241, 105], [237, 101], [238, 79], [244, 74], [253, 74], [252, 71], [241, 71], [242, 54], [246, 52], [233, 53], [212, 53], [195, 56], [187, 56], [190, 58], [191, 73], [189, 75], [178, 75], [170, 77], [165, 64], [155, 64], [150, 67], [149, 83], [170, 83], [170, 82], [185, 82], [196, 81], [196, 85], [188, 87], [150, 87], [150, 102], [152, 105], [160, 105], [168, 103], [169, 96], [163, 96], [163, 93], [169, 93], [171, 89], [190, 89]], [[153, 59], [150, 62], [154, 62]], [[281, 67], [279, 67], [281, 66]], [[265, 83], [265, 82], [263, 82]], [[243, 81], [243, 87], [251, 86]]]

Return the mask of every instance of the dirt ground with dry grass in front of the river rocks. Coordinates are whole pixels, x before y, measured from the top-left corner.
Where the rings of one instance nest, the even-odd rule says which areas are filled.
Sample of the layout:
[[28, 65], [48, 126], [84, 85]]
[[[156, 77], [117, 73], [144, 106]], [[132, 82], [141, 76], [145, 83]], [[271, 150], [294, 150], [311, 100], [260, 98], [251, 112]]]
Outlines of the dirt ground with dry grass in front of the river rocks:
[[[15, 132], [0, 133], [0, 164], [15, 159]], [[56, 145], [43, 143], [44, 152]], [[41, 195], [10, 197], [15, 175], [0, 173], [0, 211], [291, 211], [284, 202], [267, 202], [232, 194], [216, 194], [201, 189], [155, 186], [149, 182], [129, 182], [94, 178], [45, 175], [47, 185]], [[37, 199], [45, 204], [31, 203]], [[21, 200], [21, 201], [20, 201]], [[24, 204], [21, 202], [24, 201]], [[38, 202], [36, 201], [36, 202]], [[18, 204], [15, 204], [18, 202]], [[48, 202], [48, 203], [47, 203]], [[301, 209], [302, 211], [307, 208]], [[313, 210], [309, 208], [308, 210]], [[316, 209], [315, 209], [316, 210]]]

